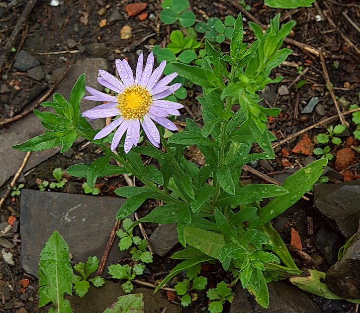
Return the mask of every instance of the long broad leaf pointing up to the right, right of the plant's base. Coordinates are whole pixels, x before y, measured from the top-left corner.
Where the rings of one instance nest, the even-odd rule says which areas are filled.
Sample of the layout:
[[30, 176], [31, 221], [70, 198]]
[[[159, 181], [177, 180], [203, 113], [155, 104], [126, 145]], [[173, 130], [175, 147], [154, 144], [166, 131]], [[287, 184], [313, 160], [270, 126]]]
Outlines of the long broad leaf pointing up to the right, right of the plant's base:
[[326, 164], [326, 159], [314, 161], [288, 177], [282, 187], [288, 189], [289, 193], [275, 197], [261, 209], [257, 228], [282, 214], [288, 207], [297, 202], [306, 191], [310, 190], [320, 177]]

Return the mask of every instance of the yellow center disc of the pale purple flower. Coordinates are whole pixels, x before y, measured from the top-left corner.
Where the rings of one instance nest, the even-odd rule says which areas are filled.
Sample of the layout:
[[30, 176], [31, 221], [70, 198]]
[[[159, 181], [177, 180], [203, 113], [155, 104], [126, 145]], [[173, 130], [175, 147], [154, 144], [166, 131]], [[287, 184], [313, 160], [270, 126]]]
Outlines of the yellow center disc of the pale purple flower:
[[116, 107], [124, 120], [142, 118], [150, 109], [152, 94], [138, 84], [131, 85], [118, 94]]

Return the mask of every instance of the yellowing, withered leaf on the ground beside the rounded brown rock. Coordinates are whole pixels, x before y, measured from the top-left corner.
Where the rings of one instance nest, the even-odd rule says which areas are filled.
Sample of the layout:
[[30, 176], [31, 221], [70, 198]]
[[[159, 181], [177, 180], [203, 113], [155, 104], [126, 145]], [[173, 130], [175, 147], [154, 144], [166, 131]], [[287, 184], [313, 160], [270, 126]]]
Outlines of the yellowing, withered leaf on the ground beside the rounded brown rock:
[[[327, 299], [343, 299], [331, 292], [324, 283], [325, 273], [308, 269], [301, 275], [290, 276], [289, 280], [302, 290], [320, 295]], [[360, 299], [346, 299], [352, 303], [360, 303]]]

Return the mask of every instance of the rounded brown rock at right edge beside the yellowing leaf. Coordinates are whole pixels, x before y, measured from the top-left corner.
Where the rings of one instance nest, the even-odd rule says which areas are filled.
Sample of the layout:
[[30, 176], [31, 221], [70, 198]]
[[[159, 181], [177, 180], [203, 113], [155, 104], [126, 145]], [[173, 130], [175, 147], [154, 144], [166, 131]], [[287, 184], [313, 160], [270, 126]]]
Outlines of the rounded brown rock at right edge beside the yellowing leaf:
[[360, 298], [360, 232], [358, 232], [342, 258], [329, 268], [325, 283], [343, 298]]

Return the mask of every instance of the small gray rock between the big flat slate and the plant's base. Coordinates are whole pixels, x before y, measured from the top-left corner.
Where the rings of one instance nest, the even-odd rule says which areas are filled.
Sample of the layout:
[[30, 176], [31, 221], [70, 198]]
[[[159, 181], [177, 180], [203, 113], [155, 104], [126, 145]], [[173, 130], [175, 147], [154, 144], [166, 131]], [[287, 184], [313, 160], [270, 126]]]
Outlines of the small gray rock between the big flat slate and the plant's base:
[[149, 241], [157, 255], [164, 256], [178, 243], [176, 225], [161, 224], [151, 234]]

